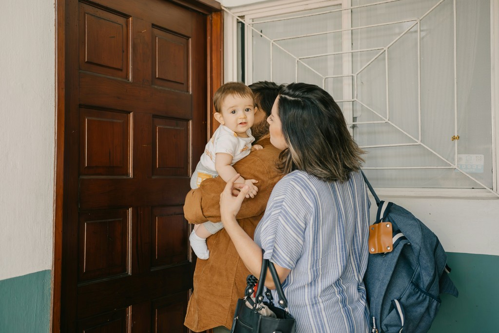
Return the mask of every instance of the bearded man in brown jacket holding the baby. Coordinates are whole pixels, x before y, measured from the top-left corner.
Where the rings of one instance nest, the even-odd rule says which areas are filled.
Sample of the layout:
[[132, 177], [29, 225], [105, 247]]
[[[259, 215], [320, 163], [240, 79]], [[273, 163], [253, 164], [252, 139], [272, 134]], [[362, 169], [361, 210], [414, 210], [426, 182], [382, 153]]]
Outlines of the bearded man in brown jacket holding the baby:
[[[245, 179], [256, 179], [258, 194], [243, 202], [238, 222], [253, 237], [273, 186], [282, 178], [275, 167], [279, 150], [270, 144], [267, 117], [282, 85], [259, 81], [250, 85], [254, 94], [255, 121], [251, 128], [255, 143], [263, 149], [255, 150], [234, 168]], [[207, 220], [220, 222], [220, 193], [226, 183], [220, 177], [203, 181], [198, 189], [186, 197], [184, 214], [189, 223]], [[198, 260], [194, 272], [194, 293], [189, 300], [185, 326], [194, 332], [214, 329], [214, 333], [229, 332], [236, 303], [244, 295], [246, 278], [250, 272], [241, 261], [229, 235], [222, 229], [207, 239], [208, 260]]]

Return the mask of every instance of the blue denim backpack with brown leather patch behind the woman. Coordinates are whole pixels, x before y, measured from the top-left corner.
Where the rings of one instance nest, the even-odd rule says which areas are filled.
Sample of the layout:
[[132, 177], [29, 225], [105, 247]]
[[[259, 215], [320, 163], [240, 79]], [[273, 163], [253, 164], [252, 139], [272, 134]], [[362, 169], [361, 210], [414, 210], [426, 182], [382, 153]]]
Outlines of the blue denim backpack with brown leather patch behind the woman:
[[[428, 332], [440, 308], [439, 295], [458, 297], [447, 255], [430, 229], [406, 209], [381, 201], [362, 175], [378, 205], [370, 232], [392, 229], [390, 244], [384, 244], [387, 252], [370, 254], [364, 275], [371, 332]], [[375, 251], [371, 245], [369, 250]]]

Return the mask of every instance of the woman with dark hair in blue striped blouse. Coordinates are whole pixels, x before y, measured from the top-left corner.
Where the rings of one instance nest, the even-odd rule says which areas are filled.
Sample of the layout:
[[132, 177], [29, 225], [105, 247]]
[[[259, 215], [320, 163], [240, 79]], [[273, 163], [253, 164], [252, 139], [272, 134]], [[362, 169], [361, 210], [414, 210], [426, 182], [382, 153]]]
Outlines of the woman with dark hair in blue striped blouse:
[[[284, 87], [267, 121], [286, 175], [272, 190], [254, 242], [236, 222], [248, 187], [229, 181], [220, 196], [224, 227], [251, 274], [260, 275], [261, 249], [274, 263], [296, 332], [368, 332], [363, 151], [331, 95], [315, 85]], [[265, 285], [274, 288], [269, 274]]]

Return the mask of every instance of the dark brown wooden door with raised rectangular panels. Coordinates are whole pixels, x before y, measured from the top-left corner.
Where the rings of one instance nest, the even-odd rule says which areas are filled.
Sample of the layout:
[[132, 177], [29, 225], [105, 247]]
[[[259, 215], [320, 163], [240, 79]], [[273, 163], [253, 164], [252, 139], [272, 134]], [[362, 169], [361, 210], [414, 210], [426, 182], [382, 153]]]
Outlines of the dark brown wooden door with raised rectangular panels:
[[182, 207], [207, 138], [208, 16], [65, 4], [61, 332], [187, 332]]

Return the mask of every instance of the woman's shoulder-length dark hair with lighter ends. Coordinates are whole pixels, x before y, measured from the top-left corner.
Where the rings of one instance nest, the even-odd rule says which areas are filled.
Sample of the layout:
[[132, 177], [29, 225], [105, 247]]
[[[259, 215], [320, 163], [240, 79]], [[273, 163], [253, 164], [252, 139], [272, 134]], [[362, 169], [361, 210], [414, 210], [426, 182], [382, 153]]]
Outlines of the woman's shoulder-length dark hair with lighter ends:
[[284, 173], [305, 171], [324, 181], [344, 182], [359, 170], [364, 153], [353, 140], [343, 113], [324, 89], [291, 83], [281, 89], [277, 114], [288, 148], [280, 155]]

